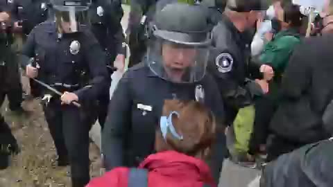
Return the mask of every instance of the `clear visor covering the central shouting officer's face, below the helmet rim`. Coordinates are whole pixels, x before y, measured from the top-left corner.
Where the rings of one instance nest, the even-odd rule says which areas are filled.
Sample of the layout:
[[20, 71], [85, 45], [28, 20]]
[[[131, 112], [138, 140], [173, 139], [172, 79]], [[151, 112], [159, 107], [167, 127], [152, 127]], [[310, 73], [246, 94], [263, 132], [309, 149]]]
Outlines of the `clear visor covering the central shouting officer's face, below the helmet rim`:
[[205, 76], [209, 48], [156, 39], [149, 44], [146, 57], [151, 71], [160, 78], [191, 83]]

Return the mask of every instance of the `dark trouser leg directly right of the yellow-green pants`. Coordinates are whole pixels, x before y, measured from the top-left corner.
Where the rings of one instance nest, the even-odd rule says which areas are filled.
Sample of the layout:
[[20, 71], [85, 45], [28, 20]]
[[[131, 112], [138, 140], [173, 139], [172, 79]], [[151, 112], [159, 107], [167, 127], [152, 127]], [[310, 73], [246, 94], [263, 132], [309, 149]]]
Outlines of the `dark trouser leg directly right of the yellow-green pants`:
[[268, 138], [269, 123], [277, 109], [274, 101], [266, 96], [255, 100], [255, 124], [249, 142], [249, 154], [259, 153], [260, 145], [265, 145]]

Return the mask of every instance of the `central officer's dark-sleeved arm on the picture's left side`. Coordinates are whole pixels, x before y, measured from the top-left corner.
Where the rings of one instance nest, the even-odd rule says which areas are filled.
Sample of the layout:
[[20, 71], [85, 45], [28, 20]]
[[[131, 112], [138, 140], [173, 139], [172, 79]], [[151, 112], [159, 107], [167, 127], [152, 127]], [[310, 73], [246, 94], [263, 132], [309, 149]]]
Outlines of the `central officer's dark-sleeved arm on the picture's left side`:
[[114, 90], [102, 131], [102, 152], [106, 170], [124, 166], [125, 139], [128, 139], [132, 105], [130, 78], [126, 72]]

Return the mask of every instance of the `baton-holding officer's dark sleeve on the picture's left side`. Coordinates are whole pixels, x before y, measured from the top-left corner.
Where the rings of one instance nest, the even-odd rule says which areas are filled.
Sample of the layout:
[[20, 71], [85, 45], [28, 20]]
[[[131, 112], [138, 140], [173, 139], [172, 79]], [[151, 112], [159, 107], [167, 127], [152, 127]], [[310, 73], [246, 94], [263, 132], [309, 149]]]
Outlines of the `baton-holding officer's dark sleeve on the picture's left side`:
[[31, 30], [28, 39], [26, 39], [26, 43], [22, 47], [21, 66], [23, 69], [26, 69], [26, 66], [30, 63], [31, 57], [35, 57], [35, 29]]

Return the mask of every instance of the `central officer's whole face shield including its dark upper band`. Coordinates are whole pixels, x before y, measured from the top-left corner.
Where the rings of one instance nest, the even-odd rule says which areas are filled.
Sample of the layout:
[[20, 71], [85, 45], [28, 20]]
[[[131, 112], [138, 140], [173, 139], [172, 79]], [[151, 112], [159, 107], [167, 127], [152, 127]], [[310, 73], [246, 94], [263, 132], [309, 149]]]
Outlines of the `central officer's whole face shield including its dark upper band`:
[[148, 44], [146, 63], [155, 75], [175, 83], [198, 82], [205, 76], [210, 33], [155, 30], [154, 35]]

